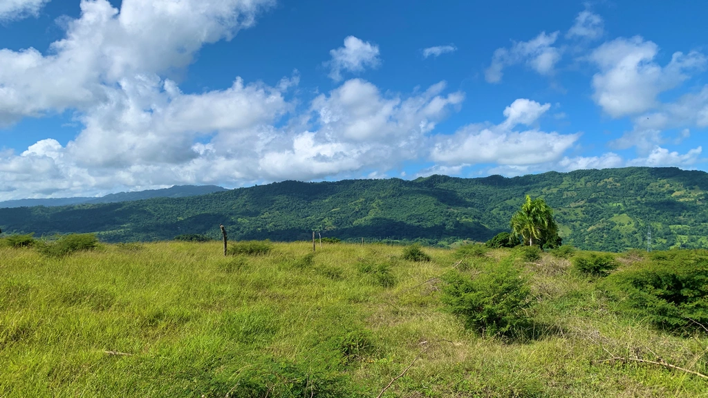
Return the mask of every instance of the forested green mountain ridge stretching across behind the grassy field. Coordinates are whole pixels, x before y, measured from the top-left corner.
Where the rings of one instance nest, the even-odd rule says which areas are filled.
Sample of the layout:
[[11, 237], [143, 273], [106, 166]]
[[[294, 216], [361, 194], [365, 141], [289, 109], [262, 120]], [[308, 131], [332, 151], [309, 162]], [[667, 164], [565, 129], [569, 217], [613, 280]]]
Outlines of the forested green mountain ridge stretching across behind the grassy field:
[[524, 195], [554, 209], [564, 243], [622, 251], [708, 247], [708, 174], [675, 168], [581, 170], [504, 178], [430, 176], [414, 181], [285, 181], [189, 198], [0, 209], [4, 232], [98, 232], [105, 241], [229, 239], [485, 241], [508, 230]]

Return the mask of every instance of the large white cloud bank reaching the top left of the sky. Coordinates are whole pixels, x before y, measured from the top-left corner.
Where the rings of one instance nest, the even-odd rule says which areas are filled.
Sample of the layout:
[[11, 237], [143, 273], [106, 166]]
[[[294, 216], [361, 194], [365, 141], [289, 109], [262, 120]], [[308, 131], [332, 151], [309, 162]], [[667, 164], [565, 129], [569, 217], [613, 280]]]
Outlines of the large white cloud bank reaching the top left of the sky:
[[122, 79], [186, 67], [202, 45], [230, 39], [272, 0], [81, 1], [47, 55], [0, 50], [0, 125], [110, 101]]

